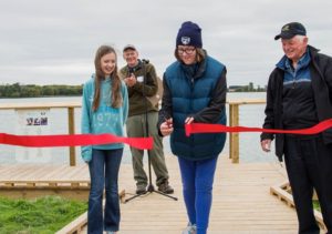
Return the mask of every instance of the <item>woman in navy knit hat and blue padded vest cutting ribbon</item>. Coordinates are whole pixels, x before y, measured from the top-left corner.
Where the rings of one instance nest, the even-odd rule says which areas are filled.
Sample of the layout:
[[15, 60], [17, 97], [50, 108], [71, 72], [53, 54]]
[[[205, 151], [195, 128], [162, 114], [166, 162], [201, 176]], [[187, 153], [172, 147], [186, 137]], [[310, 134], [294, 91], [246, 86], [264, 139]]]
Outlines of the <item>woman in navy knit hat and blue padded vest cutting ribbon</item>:
[[201, 29], [184, 22], [176, 38], [175, 57], [164, 73], [159, 111], [160, 135], [170, 134], [178, 156], [189, 224], [184, 233], [205, 234], [212, 201], [217, 159], [225, 133], [185, 135], [185, 124], [226, 124], [226, 67], [201, 49]]

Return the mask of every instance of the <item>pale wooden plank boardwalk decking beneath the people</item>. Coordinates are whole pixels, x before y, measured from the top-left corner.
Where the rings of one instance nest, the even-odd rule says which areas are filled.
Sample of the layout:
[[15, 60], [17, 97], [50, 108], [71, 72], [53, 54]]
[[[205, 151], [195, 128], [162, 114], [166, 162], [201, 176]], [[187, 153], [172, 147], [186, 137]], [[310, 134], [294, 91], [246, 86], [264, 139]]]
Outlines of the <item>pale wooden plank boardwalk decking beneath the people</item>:
[[[122, 222], [120, 234], [178, 234], [186, 226], [187, 217], [181, 196], [181, 182], [175, 156], [167, 156], [170, 185], [175, 189], [173, 201], [157, 193], [121, 205]], [[25, 166], [29, 169], [29, 166]], [[14, 166], [0, 165], [0, 185], [3, 181], [27, 181], [33, 177], [41, 181], [62, 181], [63, 184], [77, 182], [79, 186], [89, 183], [86, 165], [40, 166], [30, 172]], [[70, 170], [70, 171], [69, 171]], [[30, 176], [30, 174], [32, 174]], [[154, 179], [153, 174], [153, 180]], [[284, 170], [278, 163], [232, 164], [221, 156], [216, 171], [214, 202], [209, 223], [209, 234], [282, 234], [297, 233], [295, 212], [270, 194], [270, 186], [286, 181]], [[38, 184], [38, 183], [37, 183]], [[4, 184], [2, 183], [2, 186]], [[61, 185], [56, 183], [55, 185]], [[7, 184], [10, 186], [10, 184]], [[125, 190], [126, 199], [135, 191], [132, 165], [123, 164], [120, 175], [120, 190]], [[82, 233], [86, 233], [83, 228]]]

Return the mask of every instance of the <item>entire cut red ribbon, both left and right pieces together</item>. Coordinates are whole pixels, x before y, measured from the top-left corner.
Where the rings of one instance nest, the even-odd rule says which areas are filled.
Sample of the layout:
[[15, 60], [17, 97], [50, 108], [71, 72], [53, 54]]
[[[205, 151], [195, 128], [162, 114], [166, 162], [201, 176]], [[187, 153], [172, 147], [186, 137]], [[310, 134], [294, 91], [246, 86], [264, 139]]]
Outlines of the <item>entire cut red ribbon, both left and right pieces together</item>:
[[[194, 133], [219, 133], [219, 132], [267, 132], [288, 134], [317, 134], [332, 128], [332, 119], [319, 124], [301, 130], [277, 130], [247, 126], [226, 126], [222, 124], [191, 123], [186, 124], [186, 135]], [[0, 133], [0, 144], [10, 144], [28, 147], [49, 146], [79, 146], [93, 144], [125, 143], [139, 150], [151, 150], [153, 147], [152, 138], [122, 138], [111, 134], [74, 134], [74, 135], [12, 135]]]

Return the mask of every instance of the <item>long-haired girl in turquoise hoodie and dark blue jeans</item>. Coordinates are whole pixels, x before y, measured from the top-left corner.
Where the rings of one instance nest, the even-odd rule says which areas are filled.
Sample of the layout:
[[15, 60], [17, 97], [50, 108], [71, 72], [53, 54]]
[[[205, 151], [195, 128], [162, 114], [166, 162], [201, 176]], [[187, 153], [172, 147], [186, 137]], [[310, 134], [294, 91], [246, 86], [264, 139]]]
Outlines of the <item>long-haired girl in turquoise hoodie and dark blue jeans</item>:
[[[128, 114], [127, 89], [117, 75], [115, 50], [98, 48], [95, 74], [84, 84], [82, 101], [82, 133], [124, 135]], [[115, 233], [120, 225], [118, 170], [122, 143], [82, 146], [82, 157], [89, 164], [91, 191], [89, 196], [87, 233]], [[103, 191], [106, 204], [103, 215]]]

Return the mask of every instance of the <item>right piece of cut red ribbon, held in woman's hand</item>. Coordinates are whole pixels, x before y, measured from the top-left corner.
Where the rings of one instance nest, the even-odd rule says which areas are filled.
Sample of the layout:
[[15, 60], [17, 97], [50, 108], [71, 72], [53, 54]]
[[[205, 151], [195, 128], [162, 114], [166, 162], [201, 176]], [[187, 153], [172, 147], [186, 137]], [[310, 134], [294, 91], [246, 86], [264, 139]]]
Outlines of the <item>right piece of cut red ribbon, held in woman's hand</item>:
[[208, 123], [191, 123], [186, 124], [186, 135], [193, 133], [218, 133], [218, 132], [268, 132], [268, 133], [287, 133], [287, 134], [317, 134], [326, 129], [332, 128], [332, 119], [322, 121], [317, 125], [308, 129], [300, 130], [278, 130], [278, 129], [260, 129], [247, 126], [226, 126], [222, 124], [208, 124]]

